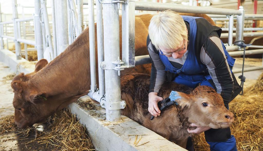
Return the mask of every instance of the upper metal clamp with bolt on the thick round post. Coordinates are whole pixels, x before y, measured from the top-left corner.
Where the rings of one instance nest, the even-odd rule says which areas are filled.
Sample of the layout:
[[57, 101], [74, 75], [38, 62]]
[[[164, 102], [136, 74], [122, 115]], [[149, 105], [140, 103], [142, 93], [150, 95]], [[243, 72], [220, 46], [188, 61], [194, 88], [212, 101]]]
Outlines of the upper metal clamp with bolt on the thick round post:
[[122, 64], [124, 64], [124, 62], [122, 62], [122, 60], [120, 60], [118, 57], [118, 60], [116, 61], [111, 61], [111, 62], [102, 61], [100, 63], [100, 67], [103, 70], [116, 70], [118, 71], [118, 75], [120, 76], [120, 71], [126, 68], [126, 67], [122, 67], [121, 66]]

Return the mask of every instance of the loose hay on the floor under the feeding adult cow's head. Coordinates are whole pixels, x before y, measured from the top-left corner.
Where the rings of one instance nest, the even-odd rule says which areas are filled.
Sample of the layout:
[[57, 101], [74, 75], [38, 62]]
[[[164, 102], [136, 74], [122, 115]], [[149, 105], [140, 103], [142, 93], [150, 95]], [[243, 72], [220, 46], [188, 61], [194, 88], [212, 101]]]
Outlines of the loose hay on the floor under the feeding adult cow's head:
[[[68, 109], [50, 116], [47, 124], [49, 126], [43, 132], [32, 127], [19, 129], [14, 124], [14, 116], [6, 116], [0, 119], [0, 135], [15, 132], [18, 142], [19, 139], [28, 139], [21, 144], [24, 145], [23, 149], [28, 149], [30, 143], [37, 142], [37, 144], [44, 144], [45, 148], [50, 150], [94, 150], [84, 126], [70, 114]], [[29, 139], [28, 136], [32, 134], [34, 139]]]

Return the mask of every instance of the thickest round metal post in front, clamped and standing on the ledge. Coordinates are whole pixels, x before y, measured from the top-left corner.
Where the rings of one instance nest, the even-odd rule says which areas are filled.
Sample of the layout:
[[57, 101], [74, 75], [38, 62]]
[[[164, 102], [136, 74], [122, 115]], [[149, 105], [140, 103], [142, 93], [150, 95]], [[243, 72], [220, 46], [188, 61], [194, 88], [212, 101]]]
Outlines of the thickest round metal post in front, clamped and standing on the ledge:
[[[119, 9], [118, 4], [104, 0], [103, 4], [104, 59], [110, 63], [120, 56]], [[106, 65], [107, 66], [107, 65]], [[106, 102], [120, 102], [120, 76], [118, 71], [105, 70]], [[119, 121], [121, 110], [109, 110], [106, 107], [106, 120]]]

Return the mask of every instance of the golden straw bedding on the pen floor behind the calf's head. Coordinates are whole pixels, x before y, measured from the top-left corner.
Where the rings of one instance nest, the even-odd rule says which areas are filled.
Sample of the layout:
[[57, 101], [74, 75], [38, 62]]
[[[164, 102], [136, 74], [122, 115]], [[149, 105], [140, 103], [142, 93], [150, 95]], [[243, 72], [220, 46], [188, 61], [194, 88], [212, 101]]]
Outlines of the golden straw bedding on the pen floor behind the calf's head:
[[[230, 104], [235, 122], [231, 133], [236, 138], [237, 150], [263, 150], [263, 74], [257, 82], [244, 90]], [[204, 134], [194, 135], [195, 150], [209, 150]]]

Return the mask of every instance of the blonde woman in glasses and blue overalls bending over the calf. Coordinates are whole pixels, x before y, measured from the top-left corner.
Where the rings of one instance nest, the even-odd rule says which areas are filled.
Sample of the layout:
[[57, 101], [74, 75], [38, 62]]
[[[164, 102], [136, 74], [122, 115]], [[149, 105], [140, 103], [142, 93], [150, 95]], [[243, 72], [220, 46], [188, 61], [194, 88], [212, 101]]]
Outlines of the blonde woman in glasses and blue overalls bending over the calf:
[[[161, 113], [157, 103], [163, 98], [158, 92], [166, 80], [192, 88], [211, 86], [221, 94], [228, 108], [241, 89], [231, 72], [235, 59], [225, 50], [220, 34], [221, 29], [204, 18], [180, 16], [173, 11], [153, 16], [147, 37], [152, 61], [148, 111], [153, 116]], [[211, 129], [195, 123], [191, 126], [196, 129], [189, 129], [189, 133], [205, 132], [211, 150], [237, 150], [230, 128]]]

